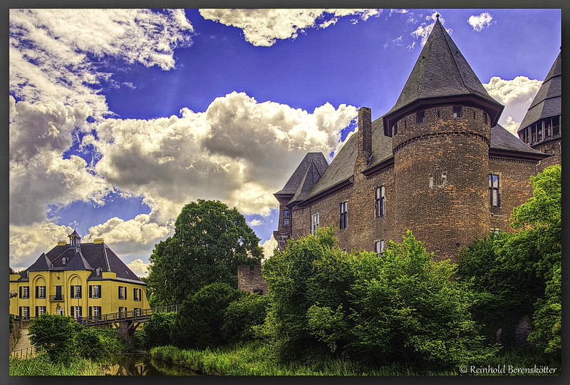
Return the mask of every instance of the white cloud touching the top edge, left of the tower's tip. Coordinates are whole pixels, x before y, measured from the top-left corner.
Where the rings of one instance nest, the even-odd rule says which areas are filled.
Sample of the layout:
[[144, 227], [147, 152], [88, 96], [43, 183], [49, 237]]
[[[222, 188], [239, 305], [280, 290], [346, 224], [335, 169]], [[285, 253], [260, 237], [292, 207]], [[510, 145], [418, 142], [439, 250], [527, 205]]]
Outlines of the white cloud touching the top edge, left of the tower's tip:
[[358, 16], [366, 21], [379, 16], [380, 9], [200, 9], [207, 20], [244, 31], [254, 46], [272, 46], [277, 39], [296, 39], [308, 28], [326, 28], [342, 16]]

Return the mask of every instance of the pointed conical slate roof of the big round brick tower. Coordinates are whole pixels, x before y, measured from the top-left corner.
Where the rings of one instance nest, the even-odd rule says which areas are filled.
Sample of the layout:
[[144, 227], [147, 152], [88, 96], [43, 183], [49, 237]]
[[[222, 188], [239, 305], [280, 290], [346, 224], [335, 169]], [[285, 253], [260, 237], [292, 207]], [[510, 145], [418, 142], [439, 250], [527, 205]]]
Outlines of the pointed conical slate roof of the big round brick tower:
[[383, 116], [385, 135], [391, 136], [393, 123], [416, 105], [462, 100], [482, 105], [492, 125], [504, 108], [489, 96], [438, 16], [398, 101]]

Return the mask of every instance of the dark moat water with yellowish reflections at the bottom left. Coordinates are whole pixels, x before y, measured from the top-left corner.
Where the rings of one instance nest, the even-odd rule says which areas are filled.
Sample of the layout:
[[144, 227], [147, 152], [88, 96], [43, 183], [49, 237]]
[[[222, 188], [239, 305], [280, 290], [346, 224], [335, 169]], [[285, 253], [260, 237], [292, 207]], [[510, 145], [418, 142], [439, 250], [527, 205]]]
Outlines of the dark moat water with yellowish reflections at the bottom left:
[[116, 356], [117, 364], [108, 367], [107, 376], [197, 376], [195, 371], [151, 359], [146, 354]]

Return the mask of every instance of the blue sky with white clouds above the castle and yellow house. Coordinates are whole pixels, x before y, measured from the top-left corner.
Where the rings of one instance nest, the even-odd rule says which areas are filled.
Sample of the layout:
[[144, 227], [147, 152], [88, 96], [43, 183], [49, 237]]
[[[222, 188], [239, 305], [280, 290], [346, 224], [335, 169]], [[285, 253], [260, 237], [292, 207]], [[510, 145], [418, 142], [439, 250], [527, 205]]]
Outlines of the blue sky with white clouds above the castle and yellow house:
[[329, 163], [393, 107], [440, 21], [516, 133], [561, 47], [560, 9], [10, 9], [9, 263], [76, 229], [139, 276], [197, 199], [276, 246], [307, 152]]

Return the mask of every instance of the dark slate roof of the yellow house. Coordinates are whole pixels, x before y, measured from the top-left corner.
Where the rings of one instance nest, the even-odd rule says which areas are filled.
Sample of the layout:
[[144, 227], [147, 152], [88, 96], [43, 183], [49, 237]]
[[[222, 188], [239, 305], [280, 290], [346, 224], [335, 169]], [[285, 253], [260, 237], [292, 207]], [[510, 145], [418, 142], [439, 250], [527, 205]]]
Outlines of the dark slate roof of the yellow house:
[[[66, 257], [66, 264], [63, 264], [63, 257]], [[43, 252], [36, 262], [24, 270], [20, 281], [27, 281], [28, 271], [63, 271], [63, 270], [90, 270], [88, 280], [101, 279], [101, 274], [97, 276], [95, 269], [101, 272], [115, 272], [117, 278], [123, 281], [145, 284], [137, 275], [128, 268], [125, 263], [108, 247], [105, 243], [85, 243], [82, 242], [79, 248], [71, 245], [58, 245], [47, 253]]]

